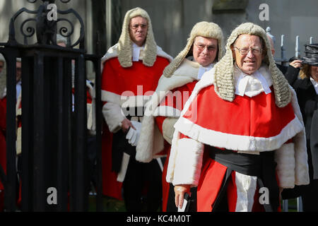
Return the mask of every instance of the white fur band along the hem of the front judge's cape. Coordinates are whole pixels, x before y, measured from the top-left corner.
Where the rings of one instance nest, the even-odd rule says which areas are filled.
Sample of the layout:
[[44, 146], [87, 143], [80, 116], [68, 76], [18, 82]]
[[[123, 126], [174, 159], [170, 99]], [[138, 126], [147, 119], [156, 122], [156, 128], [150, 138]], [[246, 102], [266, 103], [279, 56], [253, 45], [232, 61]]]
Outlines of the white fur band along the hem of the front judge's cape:
[[242, 151], [270, 151], [276, 150], [293, 138], [295, 134], [302, 131], [303, 127], [299, 119], [296, 117], [293, 121], [283, 128], [281, 133], [271, 138], [240, 136], [229, 133], [221, 133], [205, 129], [192, 121], [180, 117], [175, 124], [177, 131], [193, 138], [201, 143], [206, 143], [218, 148], [226, 148], [228, 150], [242, 150]]

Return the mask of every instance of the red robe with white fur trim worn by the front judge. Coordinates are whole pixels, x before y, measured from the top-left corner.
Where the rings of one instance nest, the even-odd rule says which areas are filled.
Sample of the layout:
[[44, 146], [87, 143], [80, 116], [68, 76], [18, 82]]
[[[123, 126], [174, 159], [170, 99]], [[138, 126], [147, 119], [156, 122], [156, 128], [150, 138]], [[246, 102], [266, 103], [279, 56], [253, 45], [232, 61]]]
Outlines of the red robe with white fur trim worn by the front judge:
[[[216, 94], [213, 76], [205, 76], [189, 98], [175, 129], [167, 181], [198, 186], [198, 211], [212, 210], [227, 169], [206, 158], [204, 145], [250, 154], [275, 150], [279, 185], [307, 183], [305, 133], [295, 92], [293, 101], [282, 108], [276, 106], [272, 86], [267, 95], [264, 92], [252, 97], [235, 95], [235, 100], [228, 102]], [[300, 145], [290, 143], [291, 138]], [[288, 174], [293, 178], [290, 179]], [[227, 190], [230, 211], [261, 210], [256, 190], [254, 198], [242, 198], [247, 194], [240, 192], [247, 184], [249, 188], [258, 189], [256, 179], [232, 172]], [[245, 201], [249, 206], [244, 204]]]

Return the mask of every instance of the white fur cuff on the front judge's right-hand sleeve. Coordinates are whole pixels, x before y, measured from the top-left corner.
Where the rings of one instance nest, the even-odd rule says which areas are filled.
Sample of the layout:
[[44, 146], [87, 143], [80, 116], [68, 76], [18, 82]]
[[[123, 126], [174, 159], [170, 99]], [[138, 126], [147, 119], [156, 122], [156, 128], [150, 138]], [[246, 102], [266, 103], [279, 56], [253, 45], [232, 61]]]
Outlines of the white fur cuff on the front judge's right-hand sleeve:
[[295, 151], [293, 143], [285, 143], [275, 151], [276, 172], [279, 186], [293, 189], [295, 186]]

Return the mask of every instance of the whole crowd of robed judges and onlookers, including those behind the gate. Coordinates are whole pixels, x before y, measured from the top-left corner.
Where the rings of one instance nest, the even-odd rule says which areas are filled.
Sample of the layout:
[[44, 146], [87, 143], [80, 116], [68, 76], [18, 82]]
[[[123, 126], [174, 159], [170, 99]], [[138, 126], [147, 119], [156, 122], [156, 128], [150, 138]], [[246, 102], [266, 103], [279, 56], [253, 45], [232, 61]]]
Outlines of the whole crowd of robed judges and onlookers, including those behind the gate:
[[288, 66], [274, 54], [257, 24], [225, 40], [219, 25], [201, 21], [172, 58], [148, 13], [127, 11], [102, 57], [102, 194], [129, 212], [276, 212], [300, 196], [304, 211], [317, 211], [318, 44]]

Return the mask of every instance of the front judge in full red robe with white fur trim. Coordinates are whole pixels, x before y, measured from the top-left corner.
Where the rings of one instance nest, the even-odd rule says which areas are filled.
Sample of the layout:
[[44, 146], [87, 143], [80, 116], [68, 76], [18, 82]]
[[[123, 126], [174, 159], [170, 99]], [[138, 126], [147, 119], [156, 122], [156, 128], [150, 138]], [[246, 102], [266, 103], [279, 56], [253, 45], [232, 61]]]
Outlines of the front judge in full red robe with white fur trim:
[[295, 91], [258, 25], [238, 26], [226, 50], [175, 124], [166, 179], [177, 206], [197, 186], [198, 211], [278, 211], [282, 189], [309, 182]]

